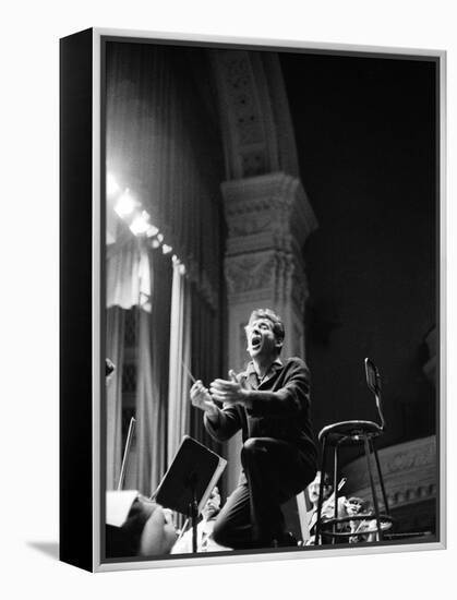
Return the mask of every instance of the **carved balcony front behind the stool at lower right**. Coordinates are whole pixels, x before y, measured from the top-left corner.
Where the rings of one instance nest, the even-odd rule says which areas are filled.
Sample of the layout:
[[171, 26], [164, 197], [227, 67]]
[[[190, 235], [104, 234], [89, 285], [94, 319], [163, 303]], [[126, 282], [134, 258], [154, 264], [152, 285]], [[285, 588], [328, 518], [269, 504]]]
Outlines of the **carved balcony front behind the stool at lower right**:
[[[436, 439], [434, 435], [382, 448], [378, 455], [392, 508], [436, 497]], [[347, 465], [342, 471], [348, 478], [348, 487], [352, 494], [371, 497], [364, 456]]]

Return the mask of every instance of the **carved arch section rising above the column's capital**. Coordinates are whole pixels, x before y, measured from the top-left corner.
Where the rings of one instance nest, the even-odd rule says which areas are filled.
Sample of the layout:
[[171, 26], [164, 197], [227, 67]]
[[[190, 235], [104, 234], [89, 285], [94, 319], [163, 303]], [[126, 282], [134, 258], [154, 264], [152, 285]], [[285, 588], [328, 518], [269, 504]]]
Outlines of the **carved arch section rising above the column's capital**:
[[298, 173], [297, 148], [278, 56], [212, 50], [227, 177], [278, 169]]

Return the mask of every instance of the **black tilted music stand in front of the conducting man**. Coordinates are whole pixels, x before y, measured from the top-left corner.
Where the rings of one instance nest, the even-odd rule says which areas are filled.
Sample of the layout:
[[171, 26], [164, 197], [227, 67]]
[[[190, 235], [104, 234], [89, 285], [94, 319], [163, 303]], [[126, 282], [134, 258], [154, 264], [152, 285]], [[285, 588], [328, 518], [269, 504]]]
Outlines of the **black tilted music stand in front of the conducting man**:
[[160, 481], [154, 500], [189, 517], [192, 524], [192, 551], [196, 552], [199, 514], [206, 504], [227, 460], [215, 452], [184, 435], [175, 458]]

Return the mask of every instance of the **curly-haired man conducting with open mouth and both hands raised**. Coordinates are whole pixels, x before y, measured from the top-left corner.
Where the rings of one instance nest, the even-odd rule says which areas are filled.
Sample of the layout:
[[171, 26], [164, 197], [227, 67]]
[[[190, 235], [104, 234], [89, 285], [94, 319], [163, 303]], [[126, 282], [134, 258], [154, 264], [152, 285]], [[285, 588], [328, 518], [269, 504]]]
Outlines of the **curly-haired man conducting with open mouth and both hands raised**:
[[272, 310], [254, 310], [245, 333], [246, 370], [230, 371], [230, 380], [215, 380], [209, 391], [201, 381], [191, 388], [212, 436], [224, 442], [242, 431], [239, 484], [217, 517], [213, 538], [233, 549], [291, 545], [280, 506], [316, 475], [310, 374], [300, 358], [280, 361], [285, 329]]

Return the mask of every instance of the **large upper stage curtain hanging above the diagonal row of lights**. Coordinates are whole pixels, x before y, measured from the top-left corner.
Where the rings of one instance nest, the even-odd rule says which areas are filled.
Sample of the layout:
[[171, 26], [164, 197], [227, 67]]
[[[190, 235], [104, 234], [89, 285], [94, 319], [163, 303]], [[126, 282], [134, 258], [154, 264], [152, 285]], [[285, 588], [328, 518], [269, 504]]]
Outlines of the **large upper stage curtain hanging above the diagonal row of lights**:
[[142, 203], [201, 297], [218, 310], [224, 159], [192, 75], [203, 56], [191, 48], [107, 44], [107, 170]]

